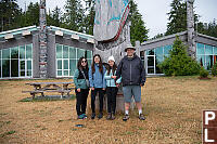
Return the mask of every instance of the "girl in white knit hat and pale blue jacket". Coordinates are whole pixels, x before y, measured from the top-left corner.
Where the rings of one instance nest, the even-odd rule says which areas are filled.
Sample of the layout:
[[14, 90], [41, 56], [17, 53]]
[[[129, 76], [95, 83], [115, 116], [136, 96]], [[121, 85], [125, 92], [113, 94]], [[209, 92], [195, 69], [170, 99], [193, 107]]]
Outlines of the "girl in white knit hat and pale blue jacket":
[[106, 79], [106, 95], [107, 95], [107, 120], [115, 119], [116, 110], [116, 95], [118, 88], [116, 83], [120, 83], [122, 78], [116, 79], [117, 65], [115, 64], [115, 58], [113, 56], [108, 57], [108, 65], [104, 79]]

